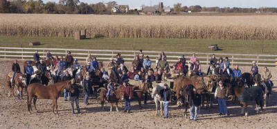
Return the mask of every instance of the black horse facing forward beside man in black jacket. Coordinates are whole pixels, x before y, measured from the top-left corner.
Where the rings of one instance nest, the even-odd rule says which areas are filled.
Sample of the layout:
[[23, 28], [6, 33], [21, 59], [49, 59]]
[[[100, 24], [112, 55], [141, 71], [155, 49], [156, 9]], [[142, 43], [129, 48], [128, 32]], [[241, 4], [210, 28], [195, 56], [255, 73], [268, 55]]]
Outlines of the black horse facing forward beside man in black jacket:
[[183, 86], [181, 88], [181, 96], [183, 97], [182, 101], [185, 105], [185, 117], [187, 116], [187, 112], [188, 112], [188, 103], [192, 97], [192, 94], [193, 94], [193, 88], [194, 86], [193, 85], [186, 85], [186, 86]]

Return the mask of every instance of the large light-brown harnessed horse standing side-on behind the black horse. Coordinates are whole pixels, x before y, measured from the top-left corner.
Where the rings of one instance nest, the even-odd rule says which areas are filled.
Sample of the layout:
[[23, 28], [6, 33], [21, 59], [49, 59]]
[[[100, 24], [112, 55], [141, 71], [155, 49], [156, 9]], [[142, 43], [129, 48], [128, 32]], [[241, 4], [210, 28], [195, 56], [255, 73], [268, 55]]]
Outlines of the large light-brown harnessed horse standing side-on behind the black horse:
[[[213, 87], [215, 87], [214, 81], [210, 77], [178, 77], [174, 81], [173, 91], [176, 92], [177, 96], [177, 105], [181, 106], [181, 101], [179, 100], [179, 95], [181, 94], [181, 88], [186, 85], [193, 85], [197, 89], [197, 92], [202, 95], [204, 92], [211, 94]], [[202, 106], [204, 106], [204, 99], [202, 99]], [[208, 106], [208, 103], [207, 103]]]

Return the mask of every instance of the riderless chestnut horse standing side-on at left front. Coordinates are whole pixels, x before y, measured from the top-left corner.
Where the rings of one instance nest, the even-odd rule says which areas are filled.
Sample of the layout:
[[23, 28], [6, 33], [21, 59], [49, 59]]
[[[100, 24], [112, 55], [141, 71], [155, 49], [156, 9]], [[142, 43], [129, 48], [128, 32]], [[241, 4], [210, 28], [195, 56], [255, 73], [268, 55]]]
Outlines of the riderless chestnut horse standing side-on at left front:
[[[68, 81], [62, 81], [60, 83], [50, 84], [48, 86], [43, 86], [40, 83], [31, 83], [27, 88], [28, 111], [30, 112], [30, 110], [32, 110], [31, 108], [32, 99], [33, 99], [33, 104], [36, 112], [37, 112], [37, 107], [35, 106], [35, 103], [37, 101], [37, 98], [53, 99], [52, 112], [55, 114], [54, 107], [56, 108], [56, 111], [57, 111], [57, 99], [59, 98], [60, 92], [62, 92], [64, 89], [69, 90], [70, 92], [73, 91], [73, 87], [72, 87], [73, 83], [74, 83], [74, 79], [71, 79]], [[56, 114], [59, 115], [58, 112]]]

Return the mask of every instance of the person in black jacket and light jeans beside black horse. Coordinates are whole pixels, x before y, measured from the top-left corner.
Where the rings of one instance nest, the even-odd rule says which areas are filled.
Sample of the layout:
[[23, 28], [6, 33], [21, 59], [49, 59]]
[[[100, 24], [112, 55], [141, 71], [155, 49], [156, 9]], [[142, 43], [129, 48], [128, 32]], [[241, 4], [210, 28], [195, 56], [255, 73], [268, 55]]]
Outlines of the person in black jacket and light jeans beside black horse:
[[201, 105], [201, 96], [196, 92], [196, 88], [193, 88], [193, 92], [189, 102], [190, 102], [190, 120], [197, 121], [199, 106]]

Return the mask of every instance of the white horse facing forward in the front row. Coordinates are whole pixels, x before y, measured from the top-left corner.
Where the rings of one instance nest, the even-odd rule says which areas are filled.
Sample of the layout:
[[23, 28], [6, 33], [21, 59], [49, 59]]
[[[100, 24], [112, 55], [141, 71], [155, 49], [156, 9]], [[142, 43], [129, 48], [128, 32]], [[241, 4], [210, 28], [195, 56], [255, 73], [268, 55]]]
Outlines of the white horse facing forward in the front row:
[[153, 86], [152, 89], [152, 98], [155, 101], [156, 104], [156, 115], [158, 115], [158, 104], [160, 103], [161, 106], [161, 115], [163, 115], [163, 102], [161, 101], [161, 95], [160, 95], [160, 91], [163, 89], [163, 85], [164, 83], [159, 83], [156, 86]]

